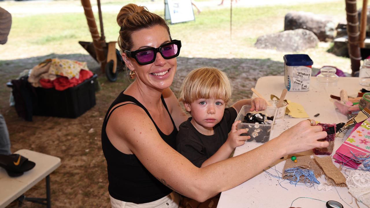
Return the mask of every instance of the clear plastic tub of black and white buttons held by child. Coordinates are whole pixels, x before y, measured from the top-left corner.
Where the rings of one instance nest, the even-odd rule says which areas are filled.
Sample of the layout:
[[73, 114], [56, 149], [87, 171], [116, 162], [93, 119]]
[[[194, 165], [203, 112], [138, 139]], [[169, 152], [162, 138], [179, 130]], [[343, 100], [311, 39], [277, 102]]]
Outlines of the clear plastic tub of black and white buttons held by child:
[[[268, 117], [274, 117], [272, 120], [272, 124], [250, 124], [250, 123], [239, 123], [237, 125], [238, 129], [244, 128], [247, 129], [248, 132], [242, 134], [243, 136], [250, 136], [250, 139], [247, 141], [251, 142], [261, 142], [265, 143], [270, 140], [271, 129], [273, 123], [275, 121], [276, 116], [276, 107], [268, 106], [264, 111], [252, 111], [250, 112], [250, 105], [243, 105], [242, 109], [240, 109], [238, 116], [236, 117], [235, 121], [240, 120], [243, 122], [244, 117], [247, 113], [262, 113]], [[257, 133], [257, 134], [256, 134]]]

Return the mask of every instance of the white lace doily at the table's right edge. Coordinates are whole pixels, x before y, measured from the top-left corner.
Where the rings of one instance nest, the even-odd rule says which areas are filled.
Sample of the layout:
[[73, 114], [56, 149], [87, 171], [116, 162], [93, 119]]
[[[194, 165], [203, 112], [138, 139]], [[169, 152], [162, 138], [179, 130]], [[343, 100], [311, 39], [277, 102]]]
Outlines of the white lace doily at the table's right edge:
[[354, 198], [370, 207], [370, 172], [353, 170], [347, 177], [346, 184]]

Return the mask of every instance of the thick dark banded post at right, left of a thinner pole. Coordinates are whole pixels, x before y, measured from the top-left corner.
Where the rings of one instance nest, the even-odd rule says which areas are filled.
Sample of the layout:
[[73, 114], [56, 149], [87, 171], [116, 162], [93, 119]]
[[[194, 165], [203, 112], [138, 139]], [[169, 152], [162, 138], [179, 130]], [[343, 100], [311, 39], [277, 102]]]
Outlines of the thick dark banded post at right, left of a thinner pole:
[[346, 0], [348, 51], [351, 59], [352, 76], [360, 70], [361, 52], [359, 47], [359, 18], [356, 0]]

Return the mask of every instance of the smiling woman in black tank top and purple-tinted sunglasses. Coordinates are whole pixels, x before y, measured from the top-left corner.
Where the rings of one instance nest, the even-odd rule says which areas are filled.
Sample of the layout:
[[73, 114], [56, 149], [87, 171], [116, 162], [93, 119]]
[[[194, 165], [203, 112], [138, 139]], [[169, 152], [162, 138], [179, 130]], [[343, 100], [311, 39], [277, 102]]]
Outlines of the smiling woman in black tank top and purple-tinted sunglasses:
[[317, 141], [326, 137], [322, 127], [305, 120], [245, 154], [195, 167], [174, 150], [178, 127], [187, 119], [169, 88], [181, 42], [145, 7], [122, 7], [117, 22], [121, 54], [135, 80], [112, 103], [102, 126], [112, 207], [178, 207], [176, 192], [205, 201], [284, 155], [329, 145]]

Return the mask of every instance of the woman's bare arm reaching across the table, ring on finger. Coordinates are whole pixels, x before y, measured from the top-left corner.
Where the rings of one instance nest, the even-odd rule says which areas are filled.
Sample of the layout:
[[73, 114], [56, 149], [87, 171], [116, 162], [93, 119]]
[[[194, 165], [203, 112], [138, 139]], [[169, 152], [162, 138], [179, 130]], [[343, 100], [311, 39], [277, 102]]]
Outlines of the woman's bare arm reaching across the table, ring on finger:
[[[305, 120], [252, 151], [196, 168], [159, 137], [152, 121], [138, 106], [117, 108], [108, 126], [108, 137], [118, 150], [127, 145], [163, 184], [200, 202], [252, 178], [282, 156], [329, 145], [317, 141], [326, 137], [322, 127], [312, 127]], [[263, 160], [256, 162], [256, 158]]]

